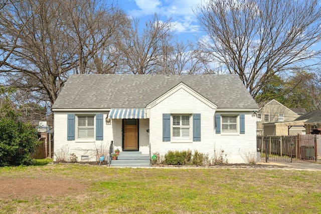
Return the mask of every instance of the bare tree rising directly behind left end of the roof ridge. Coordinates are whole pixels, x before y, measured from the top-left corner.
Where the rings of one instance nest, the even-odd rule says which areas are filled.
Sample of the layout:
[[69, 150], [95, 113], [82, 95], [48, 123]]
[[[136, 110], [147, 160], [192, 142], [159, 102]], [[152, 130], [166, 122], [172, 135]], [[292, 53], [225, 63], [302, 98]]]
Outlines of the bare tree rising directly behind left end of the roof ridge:
[[114, 51], [114, 41], [121, 34], [121, 29], [129, 28], [127, 15], [112, 3], [91, 0], [65, 0], [65, 5], [80, 5], [66, 7], [65, 20], [70, 20], [69, 35], [76, 47], [78, 65], [76, 73], [112, 73], [119, 54]]

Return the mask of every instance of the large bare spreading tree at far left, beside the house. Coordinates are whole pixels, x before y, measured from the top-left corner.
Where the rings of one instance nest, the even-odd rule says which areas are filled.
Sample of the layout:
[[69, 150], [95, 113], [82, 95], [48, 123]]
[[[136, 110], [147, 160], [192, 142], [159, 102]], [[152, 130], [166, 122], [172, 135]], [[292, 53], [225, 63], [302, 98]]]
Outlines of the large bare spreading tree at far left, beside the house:
[[[0, 13], [0, 74], [48, 107], [74, 73], [102, 73], [103, 53], [124, 14], [96, 0], [10, 1]], [[8, 53], [10, 55], [8, 55]], [[101, 58], [100, 60], [104, 60]], [[96, 69], [96, 70], [94, 70]], [[30, 98], [30, 96], [29, 96]]]

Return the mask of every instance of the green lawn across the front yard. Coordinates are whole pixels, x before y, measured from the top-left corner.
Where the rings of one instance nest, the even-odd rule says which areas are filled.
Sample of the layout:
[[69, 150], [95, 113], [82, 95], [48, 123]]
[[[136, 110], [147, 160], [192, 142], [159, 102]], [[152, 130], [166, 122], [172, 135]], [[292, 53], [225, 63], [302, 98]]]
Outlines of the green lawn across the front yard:
[[54, 164], [0, 174], [84, 185], [68, 194], [3, 196], [0, 213], [321, 213], [319, 171]]

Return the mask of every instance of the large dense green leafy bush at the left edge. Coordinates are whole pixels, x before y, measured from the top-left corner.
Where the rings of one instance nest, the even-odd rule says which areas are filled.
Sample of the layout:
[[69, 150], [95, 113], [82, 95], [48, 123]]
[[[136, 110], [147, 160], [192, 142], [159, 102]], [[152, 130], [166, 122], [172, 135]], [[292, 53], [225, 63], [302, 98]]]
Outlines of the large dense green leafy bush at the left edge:
[[0, 166], [30, 165], [36, 150], [38, 135], [31, 124], [18, 120], [18, 114], [8, 104], [0, 106]]

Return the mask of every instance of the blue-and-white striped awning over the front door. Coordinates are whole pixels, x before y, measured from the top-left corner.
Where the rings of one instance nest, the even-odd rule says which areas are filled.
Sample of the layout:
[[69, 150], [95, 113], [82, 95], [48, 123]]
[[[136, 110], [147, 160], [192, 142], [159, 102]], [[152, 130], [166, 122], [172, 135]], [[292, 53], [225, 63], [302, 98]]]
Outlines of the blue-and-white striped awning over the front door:
[[108, 114], [110, 119], [145, 119], [143, 108], [113, 108]]

